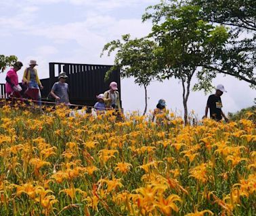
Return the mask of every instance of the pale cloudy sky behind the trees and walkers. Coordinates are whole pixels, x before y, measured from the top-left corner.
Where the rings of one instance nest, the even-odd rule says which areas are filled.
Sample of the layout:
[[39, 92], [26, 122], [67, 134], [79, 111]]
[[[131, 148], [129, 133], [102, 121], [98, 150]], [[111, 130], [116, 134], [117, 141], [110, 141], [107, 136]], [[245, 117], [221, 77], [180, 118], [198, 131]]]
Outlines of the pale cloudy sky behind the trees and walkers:
[[[159, 0], [160, 1], [160, 0]], [[157, 0], [0, 0], [0, 54], [16, 55], [27, 65], [36, 59], [40, 78], [49, 76], [50, 61], [68, 63], [112, 64], [114, 56], [100, 58], [104, 44], [122, 34], [133, 37], [150, 32], [150, 22], [142, 24], [145, 8]], [[19, 72], [22, 80], [24, 68]], [[4, 82], [6, 72], [0, 74]], [[195, 80], [194, 80], [195, 81]], [[253, 105], [255, 90], [249, 84], [231, 77], [218, 76], [213, 84], [223, 84], [223, 111], [238, 111]], [[144, 109], [144, 89], [132, 79], [121, 81], [125, 110]], [[152, 82], [148, 88], [149, 109], [158, 99], [178, 113], [182, 107], [182, 85], [177, 80]], [[201, 117], [208, 95], [191, 92], [189, 111]]]

